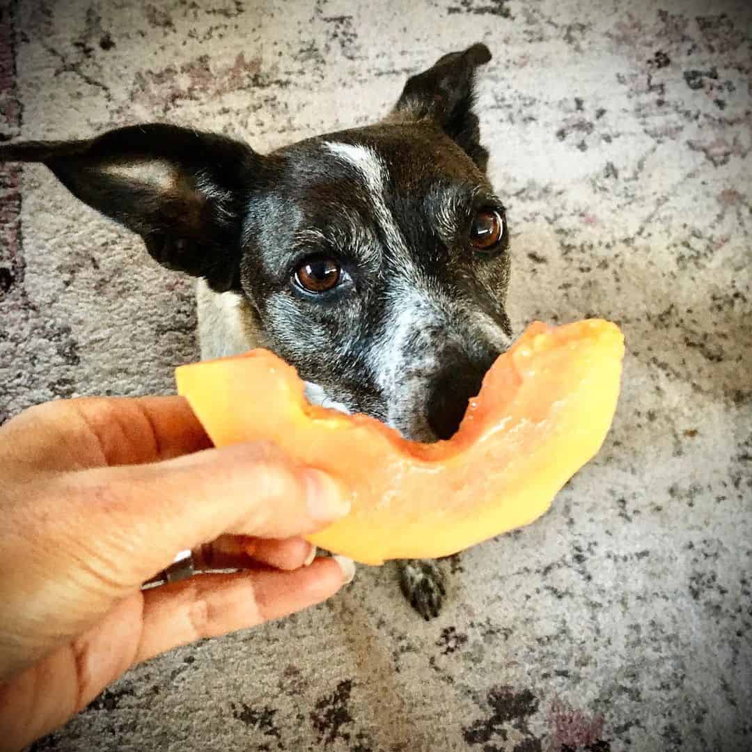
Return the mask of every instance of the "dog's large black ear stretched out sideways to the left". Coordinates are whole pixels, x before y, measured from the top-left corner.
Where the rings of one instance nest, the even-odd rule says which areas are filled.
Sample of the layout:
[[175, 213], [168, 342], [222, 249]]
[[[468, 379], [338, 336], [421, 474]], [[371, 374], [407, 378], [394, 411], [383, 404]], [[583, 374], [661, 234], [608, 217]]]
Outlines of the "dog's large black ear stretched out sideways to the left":
[[262, 158], [220, 135], [129, 126], [88, 141], [0, 145], [0, 161], [43, 162], [78, 199], [138, 232], [168, 268], [239, 290], [245, 193]]

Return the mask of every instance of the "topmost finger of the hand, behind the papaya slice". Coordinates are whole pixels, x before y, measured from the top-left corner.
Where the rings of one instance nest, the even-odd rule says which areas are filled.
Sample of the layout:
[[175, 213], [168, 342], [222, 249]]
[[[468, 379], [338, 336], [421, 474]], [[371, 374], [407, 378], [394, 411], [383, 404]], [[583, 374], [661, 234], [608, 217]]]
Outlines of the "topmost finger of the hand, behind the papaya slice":
[[9, 421], [3, 432], [13, 459], [35, 471], [135, 465], [211, 447], [182, 397], [47, 402]]

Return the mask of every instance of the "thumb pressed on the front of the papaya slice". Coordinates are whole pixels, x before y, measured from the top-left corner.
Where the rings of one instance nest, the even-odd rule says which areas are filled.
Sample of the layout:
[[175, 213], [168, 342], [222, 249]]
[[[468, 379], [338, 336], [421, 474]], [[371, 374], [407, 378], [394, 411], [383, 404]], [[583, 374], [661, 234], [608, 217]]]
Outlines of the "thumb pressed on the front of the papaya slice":
[[123, 587], [164, 569], [178, 550], [223, 533], [290, 538], [350, 511], [338, 481], [266, 442], [63, 478], [71, 505], [66, 526], [74, 528], [65, 537], [84, 545], [89, 568]]

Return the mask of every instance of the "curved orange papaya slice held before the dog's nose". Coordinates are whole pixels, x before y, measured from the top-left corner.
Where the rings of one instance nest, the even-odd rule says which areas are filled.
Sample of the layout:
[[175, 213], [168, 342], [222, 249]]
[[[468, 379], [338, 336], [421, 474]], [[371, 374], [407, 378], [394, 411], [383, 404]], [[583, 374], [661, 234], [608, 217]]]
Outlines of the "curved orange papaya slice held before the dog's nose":
[[448, 556], [543, 514], [601, 447], [623, 352], [613, 323], [533, 323], [490, 368], [453, 438], [435, 444], [308, 404], [295, 369], [267, 350], [176, 376], [217, 446], [272, 440], [344, 481], [350, 514], [309, 540], [378, 565]]

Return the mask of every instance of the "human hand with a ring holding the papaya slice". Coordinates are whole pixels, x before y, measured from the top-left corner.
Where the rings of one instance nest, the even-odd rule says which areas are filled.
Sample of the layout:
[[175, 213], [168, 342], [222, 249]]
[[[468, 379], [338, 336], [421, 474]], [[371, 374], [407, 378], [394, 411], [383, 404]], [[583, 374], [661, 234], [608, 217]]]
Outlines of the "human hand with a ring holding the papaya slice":
[[[0, 748], [80, 711], [136, 663], [336, 593], [349, 560], [300, 535], [343, 490], [271, 444], [210, 448], [180, 397], [76, 399], [0, 428]], [[141, 590], [179, 550], [242, 569]]]

